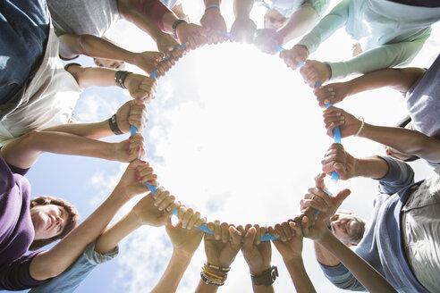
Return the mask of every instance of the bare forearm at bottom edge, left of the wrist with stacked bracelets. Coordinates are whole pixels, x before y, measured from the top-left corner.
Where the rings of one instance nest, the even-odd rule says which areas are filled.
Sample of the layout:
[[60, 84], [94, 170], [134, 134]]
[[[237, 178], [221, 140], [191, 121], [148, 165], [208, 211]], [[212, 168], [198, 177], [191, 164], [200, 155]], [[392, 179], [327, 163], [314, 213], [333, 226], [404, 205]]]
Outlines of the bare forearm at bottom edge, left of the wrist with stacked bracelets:
[[155, 288], [151, 290], [152, 293], [161, 292], [175, 292], [182, 280], [183, 273], [190, 265], [191, 256], [182, 255], [176, 251], [173, 251], [170, 262], [165, 269], [162, 278], [158, 281]]

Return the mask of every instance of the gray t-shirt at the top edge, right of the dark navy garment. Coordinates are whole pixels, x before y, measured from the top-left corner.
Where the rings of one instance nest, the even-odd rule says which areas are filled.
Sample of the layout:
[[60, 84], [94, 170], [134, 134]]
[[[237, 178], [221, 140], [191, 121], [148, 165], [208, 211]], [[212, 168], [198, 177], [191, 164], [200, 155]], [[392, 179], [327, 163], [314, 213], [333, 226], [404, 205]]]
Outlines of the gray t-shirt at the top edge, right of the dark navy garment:
[[116, 0], [47, 0], [57, 36], [102, 37], [119, 19]]

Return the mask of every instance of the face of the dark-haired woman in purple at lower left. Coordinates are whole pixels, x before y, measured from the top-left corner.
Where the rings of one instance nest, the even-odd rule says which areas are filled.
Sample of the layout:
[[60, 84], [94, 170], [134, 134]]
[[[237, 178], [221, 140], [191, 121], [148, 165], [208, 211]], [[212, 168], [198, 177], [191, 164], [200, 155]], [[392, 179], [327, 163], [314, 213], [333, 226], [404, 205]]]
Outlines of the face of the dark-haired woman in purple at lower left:
[[59, 205], [37, 205], [30, 209], [30, 218], [34, 225], [35, 238], [51, 239], [59, 235], [67, 222], [69, 214]]

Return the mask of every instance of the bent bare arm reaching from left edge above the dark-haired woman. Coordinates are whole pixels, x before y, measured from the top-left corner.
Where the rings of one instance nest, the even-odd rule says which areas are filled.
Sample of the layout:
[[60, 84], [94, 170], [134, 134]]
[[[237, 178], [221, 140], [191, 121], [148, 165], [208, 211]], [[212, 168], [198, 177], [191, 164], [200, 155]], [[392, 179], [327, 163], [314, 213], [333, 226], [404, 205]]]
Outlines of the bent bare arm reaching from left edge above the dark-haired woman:
[[45, 152], [61, 155], [83, 155], [106, 160], [114, 159], [113, 144], [64, 132], [31, 132], [2, 149], [6, 162], [27, 169]]

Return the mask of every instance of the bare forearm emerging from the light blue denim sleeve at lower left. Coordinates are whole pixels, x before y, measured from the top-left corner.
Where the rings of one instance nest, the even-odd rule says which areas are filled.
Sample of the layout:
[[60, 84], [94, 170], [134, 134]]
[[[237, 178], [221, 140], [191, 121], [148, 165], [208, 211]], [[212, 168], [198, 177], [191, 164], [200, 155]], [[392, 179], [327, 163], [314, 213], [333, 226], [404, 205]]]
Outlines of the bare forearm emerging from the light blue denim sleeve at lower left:
[[126, 214], [123, 219], [105, 230], [101, 236], [99, 236], [95, 251], [102, 255], [108, 253], [113, 250], [122, 239], [140, 226], [138, 216], [135, 213], [130, 212]]

